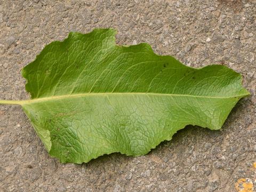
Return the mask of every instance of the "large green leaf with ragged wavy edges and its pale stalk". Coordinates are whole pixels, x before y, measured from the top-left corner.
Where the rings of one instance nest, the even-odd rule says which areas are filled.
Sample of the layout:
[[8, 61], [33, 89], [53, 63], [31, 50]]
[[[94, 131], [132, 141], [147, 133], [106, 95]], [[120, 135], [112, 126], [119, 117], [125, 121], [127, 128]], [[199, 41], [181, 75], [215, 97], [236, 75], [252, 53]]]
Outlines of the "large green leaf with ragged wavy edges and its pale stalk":
[[116, 30], [70, 33], [22, 70], [31, 100], [20, 104], [60, 162], [147, 154], [186, 125], [218, 130], [249, 95], [225, 66], [190, 68], [150, 45], [119, 46]]

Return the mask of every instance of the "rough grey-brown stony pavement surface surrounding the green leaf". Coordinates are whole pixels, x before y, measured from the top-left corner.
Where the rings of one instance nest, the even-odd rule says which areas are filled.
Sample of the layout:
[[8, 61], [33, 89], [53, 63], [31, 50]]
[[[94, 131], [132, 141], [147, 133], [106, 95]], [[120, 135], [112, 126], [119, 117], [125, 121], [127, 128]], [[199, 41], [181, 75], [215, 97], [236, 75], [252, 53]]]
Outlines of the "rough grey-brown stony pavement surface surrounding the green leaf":
[[[256, 169], [256, 1], [0, 1], [0, 98], [28, 99], [20, 69], [69, 31], [118, 29], [117, 42], [148, 42], [189, 66], [222, 63], [252, 93], [221, 131], [188, 126], [149, 155], [60, 164], [19, 106], [0, 106], [2, 191], [236, 191]], [[242, 179], [245, 178], [245, 179]], [[246, 179], [247, 178], [247, 179]], [[243, 185], [246, 182], [250, 185]]]

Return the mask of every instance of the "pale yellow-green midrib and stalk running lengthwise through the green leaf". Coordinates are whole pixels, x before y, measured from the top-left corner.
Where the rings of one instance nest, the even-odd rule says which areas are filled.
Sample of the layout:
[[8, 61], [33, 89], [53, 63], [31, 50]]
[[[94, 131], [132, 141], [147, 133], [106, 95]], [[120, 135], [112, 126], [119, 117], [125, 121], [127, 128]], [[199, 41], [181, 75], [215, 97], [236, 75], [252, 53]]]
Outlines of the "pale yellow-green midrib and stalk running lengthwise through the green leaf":
[[68, 98], [79, 98], [79, 97], [91, 97], [91, 96], [107, 96], [107, 95], [153, 95], [153, 96], [169, 96], [169, 97], [194, 97], [194, 98], [210, 98], [210, 99], [229, 99], [229, 98], [241, 98], [246, 96], [236, 95], [233, 97], [211, 97], [211, 96], [203, 96], [203, 95], [188, 95], [188, 94], [168, 94], [168, 93], [80, 93], [80, 94], [68, 94], [68, 95], [57, 95], [51, 97], [44, 97], [38, 99], [30, 99], [30, 100], [0, 100], [1, 104], [14, 104], [14, 105], [23, 105], [27, 103], [34, 102], [43, 102], [43, 101], [51, 101], [51, 100], [59, 100], [59, 99], [68, 99]]

